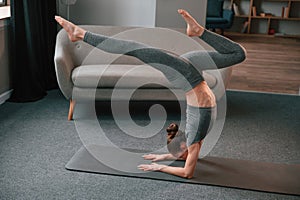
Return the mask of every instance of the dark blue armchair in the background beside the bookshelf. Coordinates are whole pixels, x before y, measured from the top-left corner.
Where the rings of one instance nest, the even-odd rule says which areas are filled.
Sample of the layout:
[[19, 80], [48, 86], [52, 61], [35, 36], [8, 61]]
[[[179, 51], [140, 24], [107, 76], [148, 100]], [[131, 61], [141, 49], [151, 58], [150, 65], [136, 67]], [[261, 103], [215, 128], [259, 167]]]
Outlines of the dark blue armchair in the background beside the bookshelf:
[[224, 29], [232, 26], [234, 13], [232, 10], [223, 9], [224, 0], [207, 0], [206, 28], [221, 29], [223, 35]]

